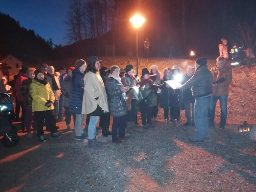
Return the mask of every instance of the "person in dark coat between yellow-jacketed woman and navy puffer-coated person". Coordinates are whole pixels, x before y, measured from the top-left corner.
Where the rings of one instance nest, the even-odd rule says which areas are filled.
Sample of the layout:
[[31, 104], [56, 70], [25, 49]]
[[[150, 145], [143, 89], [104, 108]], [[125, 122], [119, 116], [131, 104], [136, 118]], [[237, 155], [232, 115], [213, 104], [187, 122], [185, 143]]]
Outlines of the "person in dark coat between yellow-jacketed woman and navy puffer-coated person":
[[71, 90], [71, 79], [72, 79], [72, 71], [75, 69], [75, 67], [68, 68], [67, 76], [64, 78], [62, 86], [61, 86], [61, 92], [63, 94], [63, 103], [62, 106], [65, 108], [65, 122], [67, 126], [67, 130], [70, 130], [70, 121], [71, 121], [71, 114], [73, 115], [73, 122], [74, 126], [76, 125], [76, 114], [70, 112], [69, 110], [69, 97], [70, 97], [70, 90]]

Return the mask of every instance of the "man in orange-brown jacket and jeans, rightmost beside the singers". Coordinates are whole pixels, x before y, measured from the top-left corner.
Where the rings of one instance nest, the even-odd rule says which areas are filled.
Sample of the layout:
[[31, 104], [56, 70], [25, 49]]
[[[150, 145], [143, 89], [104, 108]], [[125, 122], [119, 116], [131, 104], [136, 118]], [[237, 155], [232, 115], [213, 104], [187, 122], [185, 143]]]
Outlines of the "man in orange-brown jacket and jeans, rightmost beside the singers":
[[228, 88], [232, 81], [232, 70], [226, 66], [226, 59], [218, 57], [216, 66], [211, 68], [213, 75], [212, 103], [209, 114], [209, 125], [214, 127], [216, 103], [220, 100], [220, 128], [224, 129], [227, 119]]

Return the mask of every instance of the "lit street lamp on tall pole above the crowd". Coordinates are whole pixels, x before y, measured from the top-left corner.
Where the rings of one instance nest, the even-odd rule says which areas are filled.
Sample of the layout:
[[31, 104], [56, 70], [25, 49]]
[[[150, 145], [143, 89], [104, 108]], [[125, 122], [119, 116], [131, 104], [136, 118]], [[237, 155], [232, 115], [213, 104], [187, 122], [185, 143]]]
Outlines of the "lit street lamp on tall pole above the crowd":
[[[132, 18], [130, 18], [130, 22], [133, 24], [135, 28], [140, 28], [142, 24], [146, 21], [146, 19], [140, 15], [135, 15]], [[138, 75], [138, 66], [139, 66], [139, 42], [138, 42], [138, 30], [136, 30], [136, 71]]]

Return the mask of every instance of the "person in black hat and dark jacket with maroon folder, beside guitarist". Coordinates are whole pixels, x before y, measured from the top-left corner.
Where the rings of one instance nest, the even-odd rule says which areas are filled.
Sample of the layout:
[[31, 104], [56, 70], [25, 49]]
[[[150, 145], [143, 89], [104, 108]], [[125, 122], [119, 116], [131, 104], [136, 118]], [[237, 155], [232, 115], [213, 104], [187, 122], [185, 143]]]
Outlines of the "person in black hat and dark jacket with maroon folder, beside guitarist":
[[[154, 82], [149, 79], [149, 71], [147, 68], [142, 69], [142, 77], [140, 78], [140, 90], [142, 94], [141, 103], [141, 120], [142, 128], [150, 128], [152, 123], [153, 107], [157, 105], [157, 96], [154, 89], [150, 87]], [[146, 83], [145, 83], [146, 82]]]

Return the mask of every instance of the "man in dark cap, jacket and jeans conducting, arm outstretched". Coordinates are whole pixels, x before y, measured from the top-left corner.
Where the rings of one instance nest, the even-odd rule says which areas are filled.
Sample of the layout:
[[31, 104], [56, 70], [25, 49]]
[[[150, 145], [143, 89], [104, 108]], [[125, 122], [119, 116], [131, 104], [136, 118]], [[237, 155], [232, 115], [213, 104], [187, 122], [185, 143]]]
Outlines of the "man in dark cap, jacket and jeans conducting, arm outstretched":
[[196, 72], [181, 86], [182, 90], [192, 87], [195, 98], [194, 121], [196, 125], [196, 139], [191, 142], [204, 142], [208, 136], [208, 111], [212, 96], [212, 73], [208, 69], [206, 58], [201, 57], [195, 63]]

